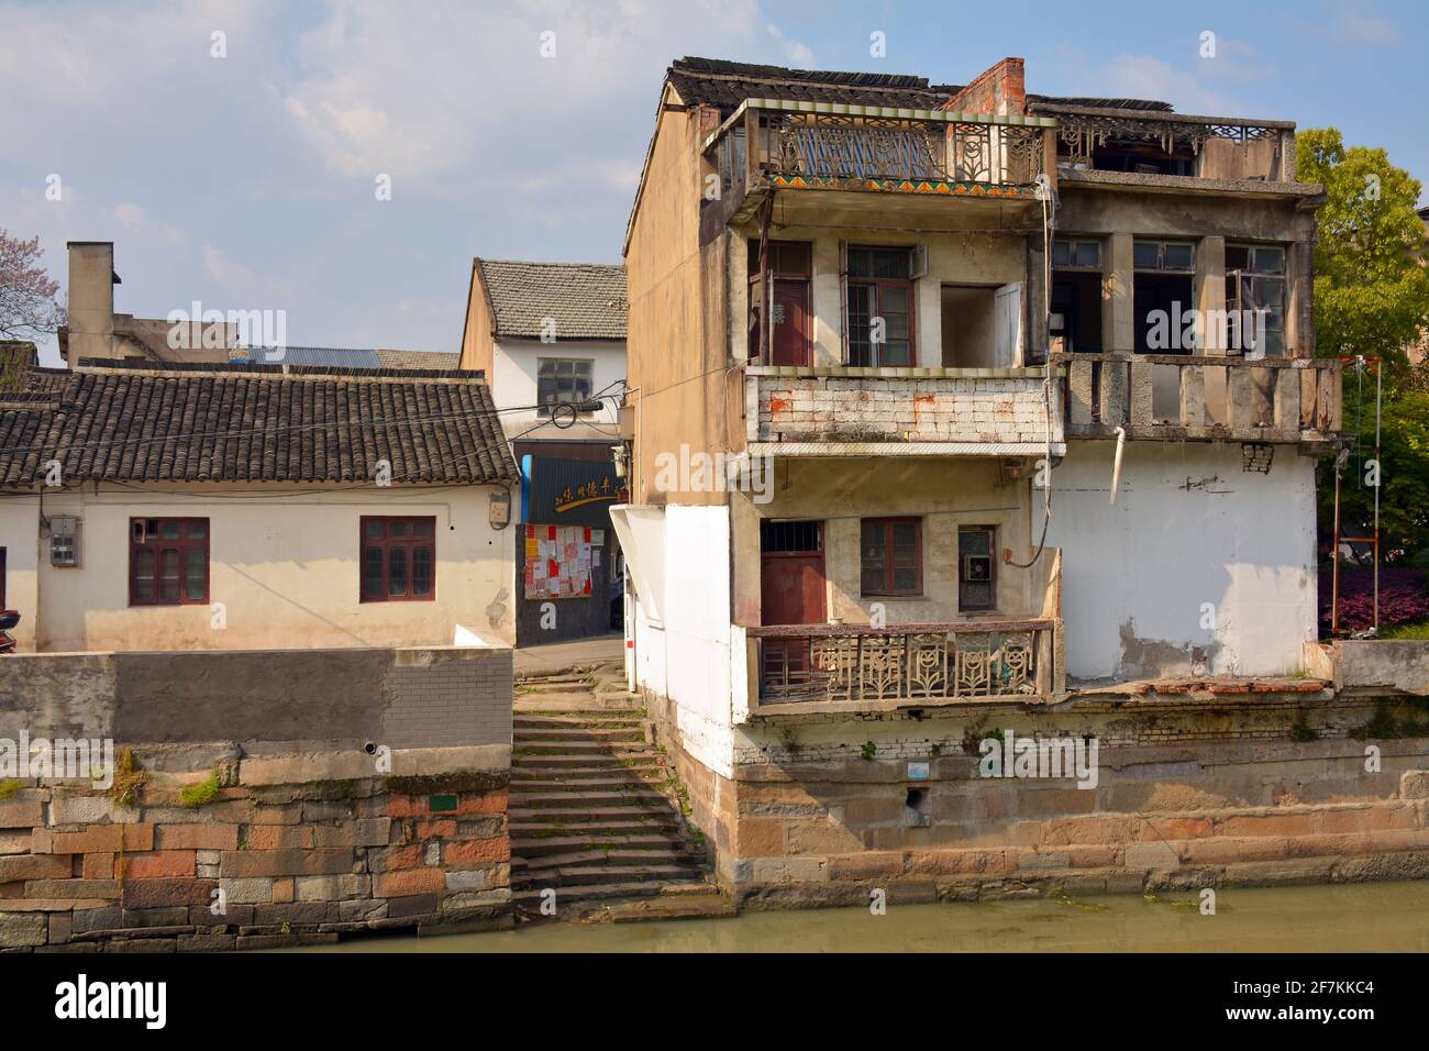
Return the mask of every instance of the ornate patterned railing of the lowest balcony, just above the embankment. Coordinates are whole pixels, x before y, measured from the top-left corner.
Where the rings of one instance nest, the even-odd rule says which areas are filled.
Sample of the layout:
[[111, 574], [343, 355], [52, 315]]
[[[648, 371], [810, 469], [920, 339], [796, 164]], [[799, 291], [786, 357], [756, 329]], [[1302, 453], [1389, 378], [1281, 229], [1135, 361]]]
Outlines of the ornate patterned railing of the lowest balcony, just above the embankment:
[[759, 704], [1026, 699], [1050, 692], [1055, 619], [749, 628]]

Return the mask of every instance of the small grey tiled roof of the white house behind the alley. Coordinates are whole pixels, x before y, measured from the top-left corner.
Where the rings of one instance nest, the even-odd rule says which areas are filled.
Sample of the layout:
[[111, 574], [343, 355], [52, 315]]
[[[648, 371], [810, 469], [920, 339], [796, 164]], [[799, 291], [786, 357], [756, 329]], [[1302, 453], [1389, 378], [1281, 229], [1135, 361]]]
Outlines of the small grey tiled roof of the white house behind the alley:
[[623, 266], [477, 259], [496, 337], [540, 339], [554, 322], [563, 339], [626, 337]]

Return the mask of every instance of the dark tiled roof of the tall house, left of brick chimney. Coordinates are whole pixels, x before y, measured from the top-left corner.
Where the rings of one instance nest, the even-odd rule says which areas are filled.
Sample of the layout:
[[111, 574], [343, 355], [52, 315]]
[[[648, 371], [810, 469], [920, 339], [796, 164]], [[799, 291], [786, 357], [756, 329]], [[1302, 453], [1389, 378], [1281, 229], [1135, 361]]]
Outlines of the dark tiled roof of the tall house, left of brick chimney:
[[746, 99], [930, 110], [960, 90], [953, 84], [930, 84], [927, 77], [796, 70], [723, 59], [679, 59], [666, 76], [683, 102], [719, 106], [725, 112], [737, 109]]

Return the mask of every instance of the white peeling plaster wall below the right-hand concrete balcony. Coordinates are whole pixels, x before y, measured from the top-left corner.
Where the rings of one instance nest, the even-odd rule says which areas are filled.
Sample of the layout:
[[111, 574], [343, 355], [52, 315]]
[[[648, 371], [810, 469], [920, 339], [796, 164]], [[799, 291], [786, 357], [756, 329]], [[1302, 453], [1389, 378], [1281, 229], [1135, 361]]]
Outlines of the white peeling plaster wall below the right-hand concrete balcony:
[[[1289, 675], [1316, 638], [1315, 460], [1276, 446], [1075, 442], [1052, 472], [1047, 543], [1063, 549], [1073, 679]], [[1035, 520], [1040, 520], [1037, 498]], [[1215, 628], [1202, 628], [1215, 605]]]

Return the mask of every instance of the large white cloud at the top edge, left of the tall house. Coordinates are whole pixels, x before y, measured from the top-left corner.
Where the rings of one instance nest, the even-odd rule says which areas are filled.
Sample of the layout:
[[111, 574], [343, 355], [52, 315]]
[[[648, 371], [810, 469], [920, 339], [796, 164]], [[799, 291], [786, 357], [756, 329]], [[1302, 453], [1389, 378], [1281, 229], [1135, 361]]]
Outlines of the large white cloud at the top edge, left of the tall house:
[[[747, 39], [757, 16], [753, 0], [500, 10], [340, 0], [299, 39], [302, 74], [283, 97], [294, 127], [344, 176], [390, 172], [426, 187], [484, 162], [519, 183], [579, 157], [623, 102], [653, 97], [682, 41], [719, 51]], [[554, 57], [542, 57], [543, 33], [554, 34]]]

